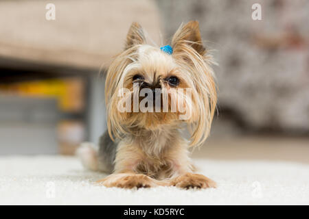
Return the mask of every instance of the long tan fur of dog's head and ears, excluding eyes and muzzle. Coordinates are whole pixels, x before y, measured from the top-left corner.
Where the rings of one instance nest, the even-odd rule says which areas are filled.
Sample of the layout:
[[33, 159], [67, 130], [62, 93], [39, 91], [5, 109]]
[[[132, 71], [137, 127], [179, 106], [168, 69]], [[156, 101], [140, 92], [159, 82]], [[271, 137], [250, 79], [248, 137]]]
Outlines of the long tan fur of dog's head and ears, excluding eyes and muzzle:
[[[203, 144], [209, 135], [211, 121], [216, 110], [217, 94], [211, 68], [211, 56], [203, 47], [198, 22], [190, 21], [179, 27], [172, 38], [174, 50], [172, 55], [167, 55], [145, 44], [144, 31], [140, 25], [133, 23], [128, 32], [125, 50], [115, 57], [108, 68], [105, 86], [108, 133], [112, 139], [123, 138], [132, 133], [135, 127], [149, 125], [147, 119], [154, 124], [166, 125], [168, 123], [179, 125], [185, 122], [191, 132], [191, 145]], [[175, 74], [181, 78], [181, 86], [192, 88], [190, 102], [193, 109], [192, 116], [187, 120], [175, 120], [174, 114], [133, 115], [118, 112], [119, 89], [132, 88], [132, 81], [129, 79], [141, 69], [146, 72], [146, 77], [152, 74], [152, 69], [154, 71], [158, 69], [166, 72], [176, 71]], [[160, 83], [162, 87], [165, 86], [162, 81]], [[160, 128], [160, 126], [154, 127]]]

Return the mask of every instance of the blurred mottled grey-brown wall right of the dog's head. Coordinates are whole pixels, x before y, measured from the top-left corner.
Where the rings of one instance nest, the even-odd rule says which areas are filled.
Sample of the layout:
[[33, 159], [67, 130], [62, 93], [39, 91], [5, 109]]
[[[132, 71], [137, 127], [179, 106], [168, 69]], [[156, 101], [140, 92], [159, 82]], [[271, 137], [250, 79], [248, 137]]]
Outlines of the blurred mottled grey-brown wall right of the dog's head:
[[[262, 21], [251, 6], [262, 5]], [[309, 1], [157, 0], [171, 38], [190, 20], [219, 66], [219, 112], [245, 127], [309, 133]], [[220, 115], [219, 115], [220, 118]]]

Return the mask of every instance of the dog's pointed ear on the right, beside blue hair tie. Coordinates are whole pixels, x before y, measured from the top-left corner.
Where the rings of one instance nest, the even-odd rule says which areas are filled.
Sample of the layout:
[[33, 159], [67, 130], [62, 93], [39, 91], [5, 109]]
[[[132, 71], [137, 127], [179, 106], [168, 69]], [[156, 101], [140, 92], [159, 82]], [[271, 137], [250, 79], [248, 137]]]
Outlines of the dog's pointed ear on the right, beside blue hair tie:
[[183, 44], [190, 45], [200, 55], [205, 54], [205, 47], [203, 47], [198, 21], [190, 21], [186, 25], [181, 25], [181, 27], [177, 29], [172, 38], [172, 48], [174, 53], [181, 51], [181, 46]]

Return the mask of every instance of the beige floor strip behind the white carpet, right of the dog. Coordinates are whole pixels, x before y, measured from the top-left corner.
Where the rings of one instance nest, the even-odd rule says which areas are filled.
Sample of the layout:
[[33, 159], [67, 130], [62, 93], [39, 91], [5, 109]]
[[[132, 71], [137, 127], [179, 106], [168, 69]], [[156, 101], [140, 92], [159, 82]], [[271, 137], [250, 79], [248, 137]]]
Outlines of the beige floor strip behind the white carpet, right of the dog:
[[309, 138], [284, 136], [210, 136], [196, 158], [272, 160], [309, 164]]

